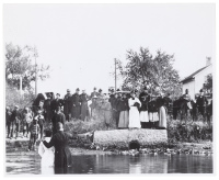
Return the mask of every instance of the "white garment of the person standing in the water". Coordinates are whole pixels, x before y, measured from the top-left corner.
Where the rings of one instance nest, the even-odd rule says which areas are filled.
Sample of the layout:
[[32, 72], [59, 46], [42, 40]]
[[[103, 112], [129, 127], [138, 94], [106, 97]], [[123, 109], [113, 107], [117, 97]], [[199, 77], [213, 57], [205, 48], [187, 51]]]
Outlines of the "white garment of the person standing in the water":
[[[45, 137], [45, 140], [49, 143], [50, 137]], [[55, 147], [47, 148], [43, 142], [41, 142], [38, 146], [38, 154], [42, 157], [42, 175], [54, 175]]]

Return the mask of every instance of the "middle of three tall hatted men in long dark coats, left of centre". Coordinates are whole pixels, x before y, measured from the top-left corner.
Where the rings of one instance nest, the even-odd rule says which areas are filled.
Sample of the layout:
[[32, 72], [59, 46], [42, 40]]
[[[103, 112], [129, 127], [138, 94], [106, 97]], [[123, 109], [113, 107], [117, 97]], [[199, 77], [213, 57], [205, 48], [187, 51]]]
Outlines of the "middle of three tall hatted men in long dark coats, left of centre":
[[72, 102], [72, 109], [71, 109], [71, 115], [73, 119], [80, 119], [81, 115], [81, 99], [79, 95], [80, 89], [76, 89], [76, 93], [71, 98]]

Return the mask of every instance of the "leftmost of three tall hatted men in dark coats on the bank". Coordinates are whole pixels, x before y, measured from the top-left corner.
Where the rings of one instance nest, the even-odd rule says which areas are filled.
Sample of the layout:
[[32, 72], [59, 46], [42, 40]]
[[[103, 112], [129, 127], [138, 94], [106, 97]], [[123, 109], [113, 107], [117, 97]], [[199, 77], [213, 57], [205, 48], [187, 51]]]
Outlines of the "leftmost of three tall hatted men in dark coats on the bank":
[[67, 89], [67, 94], [64, 98], [64, 114], [66, 115], [66, 120], [70, 121], [71, 119], [71, 109], [72, 109], [72, 104], [71, 104], [71, 92], [69, 89]]

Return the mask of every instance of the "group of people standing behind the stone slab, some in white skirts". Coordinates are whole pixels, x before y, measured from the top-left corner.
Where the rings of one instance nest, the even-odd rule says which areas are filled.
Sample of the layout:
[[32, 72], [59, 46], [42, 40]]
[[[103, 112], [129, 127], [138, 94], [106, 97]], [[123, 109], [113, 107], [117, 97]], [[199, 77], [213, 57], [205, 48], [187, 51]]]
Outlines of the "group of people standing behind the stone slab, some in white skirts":
[[169, 97], [149, 94], [145, 87], [137, 97], [137, 91], [111, 94], [110, 102], [118, 128], [166, 128]]

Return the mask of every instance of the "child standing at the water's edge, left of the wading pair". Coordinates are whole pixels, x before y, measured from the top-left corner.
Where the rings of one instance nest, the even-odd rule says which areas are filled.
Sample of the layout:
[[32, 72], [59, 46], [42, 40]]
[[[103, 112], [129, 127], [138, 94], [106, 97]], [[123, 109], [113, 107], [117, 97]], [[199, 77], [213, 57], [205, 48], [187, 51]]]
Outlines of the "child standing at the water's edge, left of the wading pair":
[[36, 150], [36, 140], [38, 138], [39, 133], [39, 125], [37, 123], [37, 119], [34, 119], [30, 126], [31, 137], [28, 142], [28, 151], [32, 149], [32, 146], [34, 147], [34, 150]]

